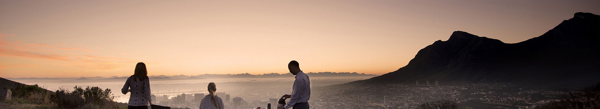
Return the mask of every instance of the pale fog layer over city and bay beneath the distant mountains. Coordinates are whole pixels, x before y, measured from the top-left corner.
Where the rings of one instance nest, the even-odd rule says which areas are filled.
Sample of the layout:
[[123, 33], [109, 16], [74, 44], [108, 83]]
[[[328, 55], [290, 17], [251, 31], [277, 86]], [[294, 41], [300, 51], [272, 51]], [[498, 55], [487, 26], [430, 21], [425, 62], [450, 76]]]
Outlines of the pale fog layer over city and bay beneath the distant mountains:
[[[290, 74], [291, 75], [291, 74]], [[350, 81], [365, 80], [371, 78], [371, 76], [362, 77], [311, 77], [311, 87], [328, 86], [332, 84], [348, 83]], [[208, 94], [206, 86], [210, 82], [217, 84], [217, 93], [224, 92], [230, 95], [230, 99], [240, 97], [244, 101], [268, 101], [269, 98], [280, 98], [282, 95], [290, 94], [292, 92], [293, 77], [280, 77], [280, 78], [206, 78], [201, 80], [163, 80], [163, 81], [150, 81], [150, 87], [152, 94], [157, 96], [157, 101], [162, 101], [163, 95], [167, 95], [168, 98], [181, 95], [182, 93], [191, 94], [194, 93], [205, 93]], [[98, 83], [28, 83], [28, 81], [22, 81], [25, 84], [39, 84], [49, 90], [57, 90], [59, 88], [65, 88], [72, 90], [74, 86], [98, 86], [103, 89], [109, 88], [112, 93], [117, 96], [117, 102], [127, 102], [130, 93], [123, 95], [121, 88], [125, 81], [118, 82], [98, 82]], [[35, 82], [35, 81], [33, 81]], [[225, 95], [218, 95], [225, 99]], [[189, 98], [192, 101], [193, 98]], [[174, 105], [175, 107], [196, 107], [197, 105]]]

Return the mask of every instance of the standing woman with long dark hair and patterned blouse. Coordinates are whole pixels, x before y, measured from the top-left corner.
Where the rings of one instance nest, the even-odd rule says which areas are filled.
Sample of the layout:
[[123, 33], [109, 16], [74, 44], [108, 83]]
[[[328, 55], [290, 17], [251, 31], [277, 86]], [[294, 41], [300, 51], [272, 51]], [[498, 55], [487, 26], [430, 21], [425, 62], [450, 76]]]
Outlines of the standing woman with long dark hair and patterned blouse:
[[154, 105], [152, 104], [152, 99], [150, 99], [150, 80], [148, 80], [146, 64], [143, 62], [137, 63], [134, 74], [127, 78], [121, 92], [123, 94], [131, 92], [131, 95], [129, 95], [129, 102], [127, 102], [127, 108], [129, 109], [147, 109], [148, 103]]

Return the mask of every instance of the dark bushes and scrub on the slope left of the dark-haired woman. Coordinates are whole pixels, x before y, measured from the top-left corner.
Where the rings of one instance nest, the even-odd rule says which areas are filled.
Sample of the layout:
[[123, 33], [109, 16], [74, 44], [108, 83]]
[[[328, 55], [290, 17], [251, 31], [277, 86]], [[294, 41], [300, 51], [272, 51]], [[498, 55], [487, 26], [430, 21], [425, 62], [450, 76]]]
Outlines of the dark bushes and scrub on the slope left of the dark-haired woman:
[[1, 101], [8, 108], [127, 108], [127, 104], [114, 101], [110, 89], [100, 87], [75, 86], [73, 91], [61, 87], [51, 92], [37, 84], [16, 84], [11, 92], [13, 99]]

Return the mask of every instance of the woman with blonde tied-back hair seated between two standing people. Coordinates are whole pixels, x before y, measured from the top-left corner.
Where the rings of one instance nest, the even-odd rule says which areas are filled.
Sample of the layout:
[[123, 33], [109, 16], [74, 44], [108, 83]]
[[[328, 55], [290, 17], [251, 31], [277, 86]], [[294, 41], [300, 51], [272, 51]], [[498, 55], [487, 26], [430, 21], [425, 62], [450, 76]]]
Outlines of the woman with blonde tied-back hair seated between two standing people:
[[200, 100], [200, 109], [223, 109], [223, 99], [217, 96], [217, 84], [208, 83], [208, 95]]

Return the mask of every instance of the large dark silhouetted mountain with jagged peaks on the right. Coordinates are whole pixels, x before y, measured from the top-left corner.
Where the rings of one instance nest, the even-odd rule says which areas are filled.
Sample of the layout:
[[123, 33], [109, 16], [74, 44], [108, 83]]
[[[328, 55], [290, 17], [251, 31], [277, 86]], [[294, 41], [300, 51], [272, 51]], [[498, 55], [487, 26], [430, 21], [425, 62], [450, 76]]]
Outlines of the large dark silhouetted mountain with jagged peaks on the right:
[[575, 13], [545, 34], [520, 43], [455, 31], [419, 50], [408, 65], [349, 84], [512, 82], [580, 87], [600, 81], [600, 16]]

